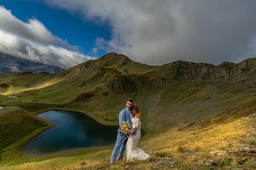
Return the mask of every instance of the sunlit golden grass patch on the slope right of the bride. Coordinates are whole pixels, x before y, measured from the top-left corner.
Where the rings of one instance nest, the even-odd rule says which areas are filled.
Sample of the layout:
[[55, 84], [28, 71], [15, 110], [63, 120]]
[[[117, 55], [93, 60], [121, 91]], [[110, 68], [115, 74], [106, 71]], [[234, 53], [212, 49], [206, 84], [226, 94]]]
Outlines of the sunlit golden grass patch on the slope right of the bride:
[[183, 151], [241, 147], [256, 143], [255, 126], [256, 105], [253, 103], [166, 130], [150, 140], [140, 142], [140, 146], [144, 146], [151, 153], [166, 155]]

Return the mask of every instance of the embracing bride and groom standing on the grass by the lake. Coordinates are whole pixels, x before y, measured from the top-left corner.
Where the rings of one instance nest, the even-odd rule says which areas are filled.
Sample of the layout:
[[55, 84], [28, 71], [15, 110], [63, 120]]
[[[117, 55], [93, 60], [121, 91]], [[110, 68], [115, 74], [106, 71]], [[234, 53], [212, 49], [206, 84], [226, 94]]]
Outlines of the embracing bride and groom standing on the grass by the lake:
[[123, 121], [128, 121], [132, 127], [131, 134], [128, 137], [122, 134], [120, 129], [117, 130], [116, 144], [111, 155], [110, 163], [114, 163], [116, 161], [118, 152], [118, 160], [121, 160], [123, 158], [125, 149], [127, 161], [148, 159], [150, 156], [145, 153], [144, 150], [137, 147], [141, 136], [141, 117], [139, 107], [133, 104], [132, 99], [127, 100], [126, 108], [119, 113], [119, 126], [121, 126]]

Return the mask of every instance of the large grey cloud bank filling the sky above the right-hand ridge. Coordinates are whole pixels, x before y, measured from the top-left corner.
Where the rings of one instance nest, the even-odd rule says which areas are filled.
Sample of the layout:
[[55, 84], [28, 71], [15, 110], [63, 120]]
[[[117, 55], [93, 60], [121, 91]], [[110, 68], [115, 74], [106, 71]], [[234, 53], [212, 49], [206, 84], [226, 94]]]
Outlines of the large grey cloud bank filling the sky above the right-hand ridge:
[[97, 47], [139, 62], [218, 64], [256, 57], [250, 48], [256, 37], [255, 0], [44, 1], [109, 24], [111, 40], [98, 37]]

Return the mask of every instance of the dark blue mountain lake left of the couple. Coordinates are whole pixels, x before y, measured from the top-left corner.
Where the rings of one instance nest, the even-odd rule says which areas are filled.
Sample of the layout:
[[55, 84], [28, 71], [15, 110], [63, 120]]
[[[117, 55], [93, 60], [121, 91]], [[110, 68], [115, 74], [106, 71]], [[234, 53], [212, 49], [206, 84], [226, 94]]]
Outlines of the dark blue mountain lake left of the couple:
[[21, 147], [26, 154], [41, 155], [80, 147], [115, 144], [118, 126], [105, 126], [75, 111], [47, 111], [39, 117], [53, 127]]

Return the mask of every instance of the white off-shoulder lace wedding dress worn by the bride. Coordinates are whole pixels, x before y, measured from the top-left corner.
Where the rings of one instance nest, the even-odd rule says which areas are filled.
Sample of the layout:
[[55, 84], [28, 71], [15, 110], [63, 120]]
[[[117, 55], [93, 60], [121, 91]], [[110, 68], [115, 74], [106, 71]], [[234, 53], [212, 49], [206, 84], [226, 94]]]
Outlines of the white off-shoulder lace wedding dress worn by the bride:
[[137, 147], [137, 144], [140, 140], [141, 132], [141, 122], [138, 118], [132, 118], [131, 119], [132, 127], [139, 127], [136, 132], [137, 135], [133, 136], [130, 135], [126, 144], [126, 157], [127, 161], [140, 161], [145, 160], [150, 157], [147, 153], [144, 152], [144, 150]]

